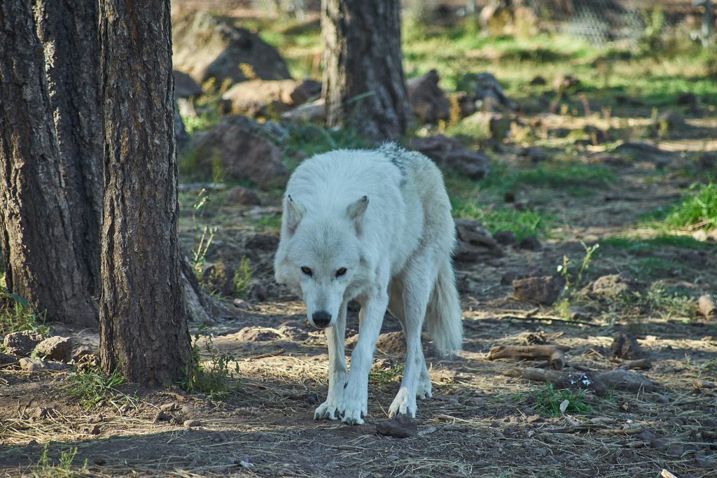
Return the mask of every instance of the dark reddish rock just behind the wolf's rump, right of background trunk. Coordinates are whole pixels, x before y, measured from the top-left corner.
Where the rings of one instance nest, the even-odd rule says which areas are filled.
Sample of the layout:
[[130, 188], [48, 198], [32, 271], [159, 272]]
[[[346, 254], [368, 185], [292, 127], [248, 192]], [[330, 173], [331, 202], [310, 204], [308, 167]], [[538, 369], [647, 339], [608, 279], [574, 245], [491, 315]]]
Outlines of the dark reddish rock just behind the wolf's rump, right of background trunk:
[[444, 135], [414, 138], [409, 148], [417, 150], [438, 163], [439, 166], [462, 173], [471, 179], [488, 174], [488, 156], [465, 148], [460, 141]]

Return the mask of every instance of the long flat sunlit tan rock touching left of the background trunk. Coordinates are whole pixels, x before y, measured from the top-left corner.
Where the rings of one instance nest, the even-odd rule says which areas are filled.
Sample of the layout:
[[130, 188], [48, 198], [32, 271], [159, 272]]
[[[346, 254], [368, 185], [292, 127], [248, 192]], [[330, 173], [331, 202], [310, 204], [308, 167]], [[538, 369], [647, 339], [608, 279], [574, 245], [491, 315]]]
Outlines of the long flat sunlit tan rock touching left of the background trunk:
[[290, 110], [320, 92], [321, 84], [313, 80], [252, 80], [232, 86], [222, 99], [228, 102], [232, 113], [266, 116]]

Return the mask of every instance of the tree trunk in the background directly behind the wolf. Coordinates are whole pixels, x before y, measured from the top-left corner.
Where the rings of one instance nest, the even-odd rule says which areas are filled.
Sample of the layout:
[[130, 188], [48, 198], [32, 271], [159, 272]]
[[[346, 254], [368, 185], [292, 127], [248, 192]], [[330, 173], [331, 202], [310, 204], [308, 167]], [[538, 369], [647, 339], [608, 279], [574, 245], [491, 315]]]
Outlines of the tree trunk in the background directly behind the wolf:
[[323, 0], [323, 97], [328, 126], [395, 140], [411, 121], [399, 0]]

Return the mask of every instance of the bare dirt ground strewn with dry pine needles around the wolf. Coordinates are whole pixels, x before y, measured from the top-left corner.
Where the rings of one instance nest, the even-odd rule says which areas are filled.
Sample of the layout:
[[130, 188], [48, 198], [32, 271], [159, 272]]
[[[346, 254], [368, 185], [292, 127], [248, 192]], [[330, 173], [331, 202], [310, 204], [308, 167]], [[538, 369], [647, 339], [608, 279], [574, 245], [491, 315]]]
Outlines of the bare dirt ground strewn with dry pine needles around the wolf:
[[[313, 420], [326, 394], [324, 333], [310, 329], [303, 305], [272, 282], [275, 233], [242, 226], [252, 214], [275, 214], [276, 204], [258, 213], [225, 204], [205, 219], [223, 214], [222, 222], [238, 226], [217, 233], [208, 256], [250, 257], [252, 280], [265, 296], [245, 301], [243, 310], [234, 308], [234, 317], [208, 329], [216, 350], [237, 360], [239, 390], [226, 401], [212, 402], [179, 388], [136, 391], [135, 396], [133, 389], [122, 388], [133, 398], [118, 396], [86, 409], [67, 392], [69, 372], [27, 376], [4, 369], [0, 467], [6, 476], [657, 477], [663, 469], [678, 477], [716, 476], [717, 325], [696, 313], [653, 316], [616, 308], [609, 300], [587, 302], [592, 319], [584, 323], [542, 320], [534, 317], [556, 317], [555, 311], [536, 311], [511, 297], [511, 277], [553, 273], [564, 254], [581, 257], [580, 240], [599, 242], [630, 226], [640, 214], [669, 204], [680, 188], [670, 178], [655, 182], [651, 173], [615, 171], [630, 181], [584, 197], [556, 193], [546, 202], [569, 226], [554, 231], [557, 239], [544, 241], [541, 250], [508, 247], [503, 257], [455, 264], [465, 350], [445, 361], [427, 345], [434, 396], [419, 402], [417, 436], [376, 434], [400, 381], [400, 342], [391, 340], [379, 344], [376, 353], [366, 424]], [[618, 196], [622, 199], [605, 200]], [[184, 224], [183, 238], [189, 241], [193, 232]], [[589, 278], [629, 269], [635, 259], [630, 254], [604, 247]], [[655, 254], [681, 267], [636, 277], [637, 290], [657, 277], [715, 292], [713, 249], [665, 247], [647, 256]], [[526, 312], [531, 312], [528, 319], [521, 318]], [[282, 328], [288, 320], [293, 328]], [[349, 338], [357, 322], [353, 311]], [[397, 330], [397, 322], [387, 318], [384, 333]], [[548, 343], [569, 348], [568, 370], [605, 371], [617, 366], [610, 346], [619, 331], [635, 333], [652, 360], [652, 368], [640, 373], [655, 389], [614, 391], [604, 398], [588, 394], [584, 401], [591, 409], [584, 413], [539, 414], [535, 391], [543, 384], [505, 376], [511, 368], [534, 364], [486, 358], [494, 345], [523, 345], [528, 333], [539, 333]], [[56, 332], [98, 345], [97, 335], [87, 330]], [[166, 421], [156, 421], [161, 406]], [[199, 420], [198, 426], [184, 426], [187, 419]], [[71, 466], [58, 466], [61, 455], [75, 448]]]

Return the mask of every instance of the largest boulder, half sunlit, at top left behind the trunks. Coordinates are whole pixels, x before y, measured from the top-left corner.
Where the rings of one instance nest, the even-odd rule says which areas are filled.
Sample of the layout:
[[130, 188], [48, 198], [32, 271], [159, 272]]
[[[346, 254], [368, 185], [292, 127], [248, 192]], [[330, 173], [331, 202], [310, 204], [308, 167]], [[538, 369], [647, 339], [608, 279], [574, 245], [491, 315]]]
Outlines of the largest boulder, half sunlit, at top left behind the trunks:
[[172, 24], [172, 61], [199, 84], [290, 78], [286, 63], [259, 35], [231, 19], [194, 11]]

